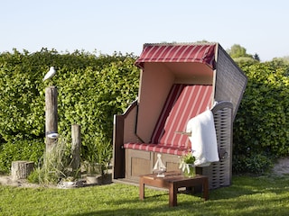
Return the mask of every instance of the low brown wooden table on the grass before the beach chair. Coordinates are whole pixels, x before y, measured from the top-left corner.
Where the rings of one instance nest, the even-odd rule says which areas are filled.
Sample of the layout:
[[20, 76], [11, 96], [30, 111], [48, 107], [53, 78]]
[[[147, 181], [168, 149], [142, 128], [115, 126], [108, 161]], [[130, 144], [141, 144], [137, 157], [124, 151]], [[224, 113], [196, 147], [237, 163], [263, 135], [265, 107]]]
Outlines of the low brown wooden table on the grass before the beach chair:
[[180, 172], [167, 172], [164, 177], [157, 177], [156, 174], [141, 175], [139, 178], [139, 198], [144, 200], [144, 185], [169, 189], [169, 206], [177, 205], [177, 193], [179, 188], [191, 188], [202, 185], [204, 200], [209, 199], [209, 178], [205, 175], [185, 177]]

